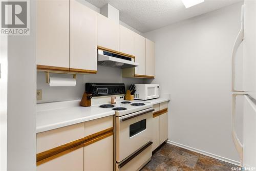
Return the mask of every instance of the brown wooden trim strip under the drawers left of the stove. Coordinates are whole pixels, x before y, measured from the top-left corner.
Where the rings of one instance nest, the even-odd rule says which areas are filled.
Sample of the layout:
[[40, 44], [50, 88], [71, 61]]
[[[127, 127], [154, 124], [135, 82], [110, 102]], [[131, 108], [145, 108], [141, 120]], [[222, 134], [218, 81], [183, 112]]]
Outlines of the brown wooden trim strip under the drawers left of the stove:
[[36, 154], [36, 165], [40, 165], [42, 163], [55, 159], [56, 157], [65, 155], [80, 147], [92, 144], [94, 142], [97, 142], [111, 135], [113, 135], [113, 127], [110, 127], [109, 129], [102, 130], [95, 134], [86, 136], [84, 138], [69, 142], [67, 144], [57, 146], [45, 152], [38, 153]]

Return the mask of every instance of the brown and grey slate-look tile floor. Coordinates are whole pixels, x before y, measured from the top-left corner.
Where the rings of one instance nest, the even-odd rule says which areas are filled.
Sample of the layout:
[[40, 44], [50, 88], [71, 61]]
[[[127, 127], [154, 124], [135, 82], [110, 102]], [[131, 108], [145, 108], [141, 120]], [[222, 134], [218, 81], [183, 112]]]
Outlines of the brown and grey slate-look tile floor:
[[231, 170], [236, 165], [220, 161], [196, 152], [189, 151], [171, 144], [164, 144], [152, 159], [141, 170], [142, 171], [176, 171], [176, 170]]

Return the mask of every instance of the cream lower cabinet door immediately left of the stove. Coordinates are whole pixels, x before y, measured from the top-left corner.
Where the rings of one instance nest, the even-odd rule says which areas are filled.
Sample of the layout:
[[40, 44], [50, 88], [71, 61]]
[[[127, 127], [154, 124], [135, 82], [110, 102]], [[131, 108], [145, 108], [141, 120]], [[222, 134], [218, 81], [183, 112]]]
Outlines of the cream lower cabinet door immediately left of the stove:
[[113, 135], [84, 146], [84, 171], [113, 170]]

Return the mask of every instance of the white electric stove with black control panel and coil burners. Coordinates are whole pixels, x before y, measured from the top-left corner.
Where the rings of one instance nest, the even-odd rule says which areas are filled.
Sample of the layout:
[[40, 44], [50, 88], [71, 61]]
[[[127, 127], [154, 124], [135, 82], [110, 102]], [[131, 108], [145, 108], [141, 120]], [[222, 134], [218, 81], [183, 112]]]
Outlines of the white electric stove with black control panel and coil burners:
[[[115, 111], [114, 168], [139, 170], [152, 156], [153, 111], [151, 103], [124, 100], [123, 83], [86, 83], [93, 108]], [[111, 104], [111, 97], [116, 103]]]

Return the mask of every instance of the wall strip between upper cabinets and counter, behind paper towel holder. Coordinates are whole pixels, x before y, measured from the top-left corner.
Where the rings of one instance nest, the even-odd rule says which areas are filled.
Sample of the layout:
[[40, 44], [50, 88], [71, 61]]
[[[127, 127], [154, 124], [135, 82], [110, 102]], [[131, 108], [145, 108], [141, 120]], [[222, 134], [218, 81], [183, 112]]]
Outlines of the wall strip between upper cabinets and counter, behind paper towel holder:
[[[50, 76], [71, 77], [68, 74]], [[45, 73], [37, 72], [37, 89], [42, 90], [42, 100], [37, 100], [37, 103], [81, 99], [86, 82], [125, 83], [127, 87], [131, 83], [143, 83], [143, 79], [122, 78], [121, 69], [98, 66], [97, 74], [78, 74], [75, 87], [49, 87]]]

